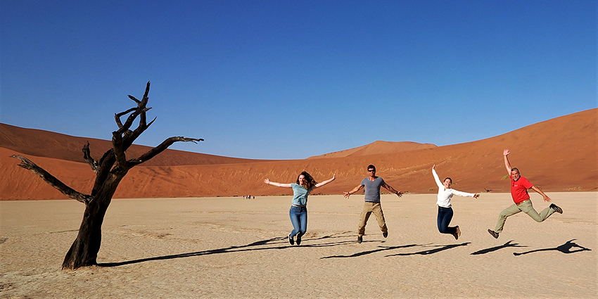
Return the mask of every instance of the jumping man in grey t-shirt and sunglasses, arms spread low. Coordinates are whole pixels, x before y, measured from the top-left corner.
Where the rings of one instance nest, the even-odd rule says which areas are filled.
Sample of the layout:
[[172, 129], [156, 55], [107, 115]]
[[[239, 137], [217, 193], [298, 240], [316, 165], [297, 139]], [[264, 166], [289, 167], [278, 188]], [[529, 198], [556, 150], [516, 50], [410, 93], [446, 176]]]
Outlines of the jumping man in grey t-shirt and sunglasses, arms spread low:
[[388, 229], [386, 228], [386, 221], [384, 220], [384, 214], [380, 205], [380, 187], [383, 186], [386, 190], [395, 193], [401, 197], [402, 191], [396, 191], [393, 187], [386, 184], [381, 177], [376, 177], [376, 167], [374, 165], [368, 165], [367, 172], [368, 177], [362, 180], [361, 184], [349, 192], [343, 192], [345, 198], [349, 198], [352, 193], [360, 191], [365, 187], [365, 204], [360, 215], [359, 229], [357, 230], [357, 242], [362, 243], [363, 235], [365, 234], [365, 224], [369, 219], [369, 215], [374, 213], [376, 220], [378, 220], [378, 226], [382, 230], [382, 236], [386, 238], [388, 236]]

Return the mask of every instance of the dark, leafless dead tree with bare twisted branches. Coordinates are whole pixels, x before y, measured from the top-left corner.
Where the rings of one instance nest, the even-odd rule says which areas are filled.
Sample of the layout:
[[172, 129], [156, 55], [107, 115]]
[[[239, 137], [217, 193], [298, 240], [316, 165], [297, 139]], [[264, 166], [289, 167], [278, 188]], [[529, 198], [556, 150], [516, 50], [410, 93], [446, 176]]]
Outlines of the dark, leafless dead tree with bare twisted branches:
[[[136, 107], [115, 114], [118, 129], [112, 133], [112, 148], [106, 151], [99, 161], [91, 158], [89, 143], [83, 146], [84, 160], [87, 161], [91, 170], [96, 173], [94, 188], [91, 190], [90, 194], [75, 191], [46, 172], [42, 167], [35, 165], [29, 159], [21, 155], [11, 155], [11, 157], [21, 160], [21, 163], [19, 164], [20, 167], [31, 170], [44, 179], [46, 183], [58, 189], [58, 191], [85, 204], [85, 212], [83, 214], [81, 227], [79, 227], [79, 234], [77, 234], [77, 238], [72, 243], [70, 250], [68, 250], [68, 253], [65, 256], [63, 269], [77, 269], [79, 267], [96, 265], [96, 258], [98, 256], [98, 251], [100, 250], [102, 238], [101, 228], [104, 215], [106, 215], [106, 210], [108, 209], [108, 205], [110, 205], [110, 201], [112, 200], [118, 184], [132, 167], [150, 160], [155, 157], [155, 155], [158, 155], [158, 153], [162, 153], [168, 146], [174, 144], [174, 142], [191, 141], [197, 143], [197, 141], [203, 141], [203, 139], [170, 137], [163, 141], [159, 146], [156, 146], [147, 153], [141, 155], [139, 158], [127, 160], [125, 155], [127, 148], [129, 148], [135, 139], [137, 139], [141, 133], [145, 132], [155, 120], [154, 118], [151, 122], [146, 122], [146, 112], [151, 109], [146, 108], [149, 87], [150, 82], [147, 84], [144, 98], [141, 99], [141, 101], [134, 98], [134, 96], [129, 96], [129, 98], [137, 104]], [[129, 117], [127, 117], [127, 120], [123, 124], [120, 117], [127, 114], [129, 114]], [[131, 130], [130, 128], [137, 117], [139, 117], [139, 126], [136, 129]]]

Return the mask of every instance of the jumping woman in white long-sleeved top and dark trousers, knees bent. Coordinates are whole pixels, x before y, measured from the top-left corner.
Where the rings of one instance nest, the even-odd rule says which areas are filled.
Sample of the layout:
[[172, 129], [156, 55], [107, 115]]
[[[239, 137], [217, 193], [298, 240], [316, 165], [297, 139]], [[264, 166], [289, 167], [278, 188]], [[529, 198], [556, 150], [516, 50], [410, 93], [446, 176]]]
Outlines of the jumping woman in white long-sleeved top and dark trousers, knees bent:
[[440, 231], [441, 234], [452, 234], [454, 239], [457, 240], [459, 236], [461, 236], [461, 229], [459, 229], [459, 226], [448, 226], [450, 224], [450, 220], [452, 220], [450, 198], [452, 198], [453, 195], [478, 198], [480, 194], [466, 193], [450, 189], [452, 179], [447, 177], [444, 182], [441, 183], [440, 179], [438, 178], [438, 174], [436, 174], [436, 170], [434, 170], [434, 167], [436, 167], [436, 165], [432, 166], [432, 174], [434, 176], [434, 180], [436, 181], [436, 185], [438, 185], [438, 201], [436, 202], [438, 205], [438, 231]]

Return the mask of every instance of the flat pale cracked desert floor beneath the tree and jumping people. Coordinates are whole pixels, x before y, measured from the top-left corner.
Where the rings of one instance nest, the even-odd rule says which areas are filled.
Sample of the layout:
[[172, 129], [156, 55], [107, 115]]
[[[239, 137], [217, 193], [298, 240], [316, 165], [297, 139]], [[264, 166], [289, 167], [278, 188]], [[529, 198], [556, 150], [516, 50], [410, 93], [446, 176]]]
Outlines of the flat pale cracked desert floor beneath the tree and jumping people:
[[598, 193], [548, 195], [563, 215], [519, 213], [498, 239], [486, 230], [511, 196], [455, 196], [458, 241], [438, 233], [435, 194], [386, 195], [388, 238], [370, 219], [361, 244], [363, 196], [310, 196], [301, 246], [286, 241], [291, 196], [117, 199], [101, 265], [75, 272], [60, 267], [84, 205], [4, 201], [0, 298], [596, 298]]

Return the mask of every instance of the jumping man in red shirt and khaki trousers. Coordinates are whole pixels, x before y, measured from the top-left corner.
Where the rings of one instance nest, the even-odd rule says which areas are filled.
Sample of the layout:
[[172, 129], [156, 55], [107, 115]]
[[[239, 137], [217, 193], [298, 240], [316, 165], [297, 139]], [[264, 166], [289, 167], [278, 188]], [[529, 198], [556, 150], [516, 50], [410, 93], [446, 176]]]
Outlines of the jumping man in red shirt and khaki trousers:
[[507, 158], [509, 153], [509, 149], [507, 148], [502, 152], [502, 155], [504, 155], [504, 166], [507, 167], [507, 172], [509, 172], [509, 175], [511, 176], [511, 197], [515, 203], [514, 205], [511, 205], [509, 208], [506, 208], [500, 212], [495, 230], [492, 231], [491, 229], [488, 229], [488, 232], [495, 238], [498, 238], [498, 234], [502, 232], [502, 227], [504, 227], [504, 221], [507, 220], [507, 217], [515, 215], [518, 212], [525, 212], [537, 222], [546, 220], [554, 212], [563, 214], [563, 209], [559, 208], [559, 206], [555, 205], [554, 203], [551, 203], [548, 208], [542, 210], [540, 214], [534, 210], [532, 202], [530, 201], [528, 189], [532, 189], [533, 191], [540, 193], [540, 195], [544, 197], [544, 201], [547, 203], [550, 202], [550, 198], [544, 192], [542, 192], [542, 190], [530, 183], [528, 179], [521, 177], [517, 168], [511, 168], [511, 163], [509, 163], [509, 158]]

